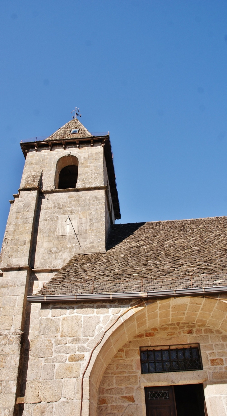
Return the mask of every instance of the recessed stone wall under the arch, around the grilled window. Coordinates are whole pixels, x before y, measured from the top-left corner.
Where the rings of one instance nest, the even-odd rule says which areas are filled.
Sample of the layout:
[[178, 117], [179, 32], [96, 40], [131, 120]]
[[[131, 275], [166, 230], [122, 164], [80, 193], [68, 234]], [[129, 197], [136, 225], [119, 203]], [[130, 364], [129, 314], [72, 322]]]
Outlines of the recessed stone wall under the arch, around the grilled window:
[[[200, 343], [203, 371], [141, 374], [139, 347], [192, 342]], [[227, 335], [202, 324], [178, 322], [153, 327], [120, 348], [106, 368], [99, 388], [98, 416], [144, 414], [144, 386], [204, 381], [227, 383]], [[227, 392], [225, 396], [227, 399]]]

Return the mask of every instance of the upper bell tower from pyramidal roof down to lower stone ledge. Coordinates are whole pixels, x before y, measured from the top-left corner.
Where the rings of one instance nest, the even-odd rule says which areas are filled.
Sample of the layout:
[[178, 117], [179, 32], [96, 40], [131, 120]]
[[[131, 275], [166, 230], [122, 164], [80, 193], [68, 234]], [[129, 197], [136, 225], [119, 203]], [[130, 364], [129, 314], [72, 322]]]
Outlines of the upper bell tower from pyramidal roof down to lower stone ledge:
[[109, 134], [93, 136], [73, 119], [21, 148], [25, 168], [2, 267], [56, 269], [75, 253], [104, 252], [110, 226], [121, 218]]

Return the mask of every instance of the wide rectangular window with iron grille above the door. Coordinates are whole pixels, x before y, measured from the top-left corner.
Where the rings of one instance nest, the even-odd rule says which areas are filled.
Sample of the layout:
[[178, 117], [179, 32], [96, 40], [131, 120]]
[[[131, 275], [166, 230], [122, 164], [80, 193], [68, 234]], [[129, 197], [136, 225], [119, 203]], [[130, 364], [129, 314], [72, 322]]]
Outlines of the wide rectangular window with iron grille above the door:
[[199, 344], [141, 347], [141, 373], [202, 370]]

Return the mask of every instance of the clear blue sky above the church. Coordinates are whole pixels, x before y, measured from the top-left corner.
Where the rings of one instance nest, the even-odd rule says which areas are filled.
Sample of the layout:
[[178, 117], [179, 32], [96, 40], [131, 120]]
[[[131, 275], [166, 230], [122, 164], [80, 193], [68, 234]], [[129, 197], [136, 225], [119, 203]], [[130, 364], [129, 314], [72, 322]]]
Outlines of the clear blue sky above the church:
[[79, 106], [110, 131], [122, 218], [227, 215], [227, 2], [0, 2], [0, 240], [20, 140]]

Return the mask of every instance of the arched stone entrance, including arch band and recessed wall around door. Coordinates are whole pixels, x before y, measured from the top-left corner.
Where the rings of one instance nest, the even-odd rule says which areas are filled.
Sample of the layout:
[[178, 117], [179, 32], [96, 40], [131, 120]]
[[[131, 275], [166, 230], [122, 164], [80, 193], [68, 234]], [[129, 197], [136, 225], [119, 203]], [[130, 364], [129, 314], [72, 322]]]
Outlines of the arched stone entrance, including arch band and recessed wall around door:
[[[220, 389], [224, 389], [223, 392], [226, 396], [225, 351], [225, 354], [223, 354], [225, 340], [227, 341], [226, 317], [227, 304], [225, 302], [205, 297], [182, 297], [147, 302], [146, 306], [138, 306], [128, 310], [121, 321], [118, 321], [116, 327], [109, 331], [108, 336], [106, 335], [105, 341], [99, 346], [95, 352], [95, 357], [91, 360], [93, 364], [89, 366], [85, 376], [85, 379], [89, 378], [90, 394], [84, 397], [85, 401], [86, 399], [89, 400], [89, 414], [96, 414], [99, 399], [98, 406], [103, 408], [102, 415], [109, 412], [109, 409], [115, 409], [118, 414], [124, 414], [124, 416], [127, 415], [130, 409], [130, 412], [136, 411], [136, 414], [138, 414], [138, 411], [142, 411], [146, 415], [145, 386], [194, 384], [198, 382], [207, 386], [205, 395], [208, 403], [208, 414], [212, 414], [209, 413], [209, 409], [216, 400], [212, 394], [214, 384], [216, 390], [217, 385], [221, 386]], [[165, 336], [160, 336], [162, 331], [165, 332]], [[141, 374], [140, 346], [143, 346], [146, 342], [153, 343], [153, 345], [167, 345], [170, 342], [185, 344], [192, 342], [192, 339], [204, 346], [201, 348], [204, 369], [194, 371], [195, 379], [192, 377], [193, 371], [176, 372], [174, 383], [173, 373], [165, 373], [165, 376], [163, 374]], [[216, 344], [215, 347], [213, 344]], [[218, 347], [220, 344], [222, 344], [221, 347]], [[208, 345], [208, 349], [211, 347], [209, 351], [207, 350], [208, 353], [206, 352], [206, 345]], [[221, 348], [220, 351], [217, 348]], [[124, 354], [123, 358], [121, 354]], [[122, 359], [126, 362], [120, 362]], [[132, 364], [133, 368], [131, 368]], [[116, 365], [118, 368], [116, 368]], [[137, 374], [134, 374], [134, 371]], [[138, 381], [139, 379], [140, 381]], [[128, 383], [132, 384], [132, 381], [134, 385], [129, 385]], [[109, 392], [111, 389], [123, 389], [123, 391], [112, 390], [111, 394], [106, 395], [106, 389], [110, 389]], [[133, 389], [135, 389], [135, 393], [133, 393]], [[105, 395], [109, 398], [106, 399]], [[120, 398], [117, 400], [126, 402], [124, 404], [114, 403], [116, 396]], [[111, 406], [120, 407], [111, 408]]]

